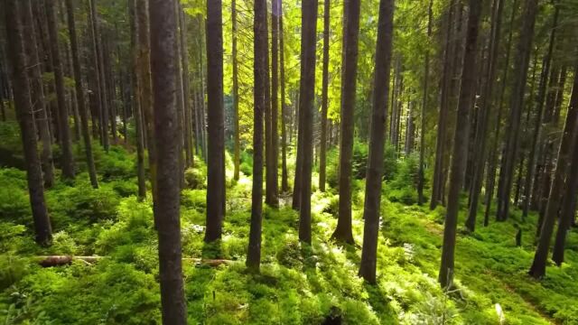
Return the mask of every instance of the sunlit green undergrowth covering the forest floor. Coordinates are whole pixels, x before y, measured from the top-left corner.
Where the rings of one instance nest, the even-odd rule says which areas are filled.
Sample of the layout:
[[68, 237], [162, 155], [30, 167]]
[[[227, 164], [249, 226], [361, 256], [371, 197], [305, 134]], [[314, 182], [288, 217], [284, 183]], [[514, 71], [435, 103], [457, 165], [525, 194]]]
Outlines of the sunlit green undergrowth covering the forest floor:
[[[100, 188], [80, 173], [74, 186], [46, 191], [54, 244], [33, 243], [25, 174], [0, 169], [0, 321], [6, 324], [153, 324], [160, 322], [158, 257], [151, 201], [135, 199], [134, 157], [120, 148], [96, 153]], [[78, 154], [81, 159], [81, 154]], [[197, 174], [202, 175], [202, 167]], [[191, 173], [194, 176], [194, 172]], [[191, 176], [190, 177], [193, 177]], [[222, 240], [203, 243], [205, 190], [182, 190], [182, 245], [190, 324], [549, 324], [578, 323], [578, 233], [568, 237], [562, 267], [527, 276], [536, 216], [514, 211], [507, 222], [461, 227], [456, 289], [437, 284], [443, 208], [394, 201], [384, 188], [378, 284], [357, 276], [362, 244], [363, 181], [355, 181], [355, 246], [330, 240], [336, 226], [335, 190], [312, 195], [312, 246], [297, 237], [298, 214], [265, 208], [260, 274], [247, 273], [245, 255], [251, 178], [231, 180]], [[313, 181], [315, 182], [315, 181]], [[188, 180], [191, 183], [191, 180]], [[465, 199], [465, 198], [464, 198]], [[284, 200], [282, 200], [284, 201]], [[482, 209], [481, 207], [480, 209]], [[523, 229], [517, 247], [516, 225]], [[42, 268], [39, 255], [99, 255], [98, 262]], [[198, 258], [222, 258], [221, 265]], [[500, 322], [501, 315], [501, 322]]]

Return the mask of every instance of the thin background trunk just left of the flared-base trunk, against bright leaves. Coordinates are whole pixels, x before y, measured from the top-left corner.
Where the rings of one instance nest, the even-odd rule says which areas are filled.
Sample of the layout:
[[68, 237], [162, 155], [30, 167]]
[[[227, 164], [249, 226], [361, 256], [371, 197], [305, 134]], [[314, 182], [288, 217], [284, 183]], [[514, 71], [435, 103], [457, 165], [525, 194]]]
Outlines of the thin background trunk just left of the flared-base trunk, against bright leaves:
[[329, 92], [329, 33], [331, 0], [323, 2], [323, 76], [322, 76], [322, 139], [319, 153], [319, 190], [325, 191], [327, 169], [327, 107]]

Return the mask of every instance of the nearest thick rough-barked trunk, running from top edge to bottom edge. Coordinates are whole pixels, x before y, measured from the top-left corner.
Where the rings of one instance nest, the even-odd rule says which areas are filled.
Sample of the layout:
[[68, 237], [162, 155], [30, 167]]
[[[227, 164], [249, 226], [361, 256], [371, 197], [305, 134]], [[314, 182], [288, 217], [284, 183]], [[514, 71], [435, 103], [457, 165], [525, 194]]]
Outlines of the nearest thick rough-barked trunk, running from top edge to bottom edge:
[[173, 0], [151, 0], [151, 70], [154, 89], [154, 140], [158, 149], [155, 220], [159, 237], [159, 278], [163, 324], [186, 324], [182, 283], [180, 172], [176, 108], [176, 16]]

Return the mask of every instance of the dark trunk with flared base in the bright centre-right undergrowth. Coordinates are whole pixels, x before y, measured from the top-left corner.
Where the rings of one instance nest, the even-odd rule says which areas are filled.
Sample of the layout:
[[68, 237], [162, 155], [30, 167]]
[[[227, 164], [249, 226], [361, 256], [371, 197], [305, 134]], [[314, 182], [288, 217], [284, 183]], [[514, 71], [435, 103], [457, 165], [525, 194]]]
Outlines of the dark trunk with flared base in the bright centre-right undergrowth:
[[343, 70], [341, 72], [340, 204], [337, 228], [331, 236], [353, 244], [351, 232], [351, 161], [353, 158], [353, 116], [358, 71], [359, 0], [343, 6]]

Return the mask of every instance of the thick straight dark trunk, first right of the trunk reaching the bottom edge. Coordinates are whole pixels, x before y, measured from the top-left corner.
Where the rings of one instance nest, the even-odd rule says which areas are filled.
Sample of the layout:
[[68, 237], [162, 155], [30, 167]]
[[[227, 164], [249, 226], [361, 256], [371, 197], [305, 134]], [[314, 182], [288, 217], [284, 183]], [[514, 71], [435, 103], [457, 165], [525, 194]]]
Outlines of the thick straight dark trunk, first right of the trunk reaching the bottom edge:
[[208, 174], [205, 242], [220, 238], [225, 218], [225, 125], [221, 1], [207, 2]]

